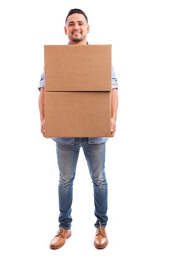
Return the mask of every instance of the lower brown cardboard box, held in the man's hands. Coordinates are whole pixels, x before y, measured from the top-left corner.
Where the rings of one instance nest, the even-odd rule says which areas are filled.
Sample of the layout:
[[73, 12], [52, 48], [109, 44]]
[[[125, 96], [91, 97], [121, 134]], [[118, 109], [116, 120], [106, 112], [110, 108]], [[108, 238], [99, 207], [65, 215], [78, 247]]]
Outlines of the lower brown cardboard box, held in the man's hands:
[[111, 137], [111, 92], [45, 92], [45, 137]]

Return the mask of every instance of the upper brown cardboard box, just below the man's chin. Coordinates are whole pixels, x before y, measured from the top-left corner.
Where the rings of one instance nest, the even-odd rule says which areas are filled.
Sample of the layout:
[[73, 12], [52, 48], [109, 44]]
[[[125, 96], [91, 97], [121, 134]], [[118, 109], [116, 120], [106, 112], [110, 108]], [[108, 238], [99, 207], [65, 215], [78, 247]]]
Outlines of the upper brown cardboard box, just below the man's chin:
[[111, 91], [112, 45], [45, 45], [45, 92]]

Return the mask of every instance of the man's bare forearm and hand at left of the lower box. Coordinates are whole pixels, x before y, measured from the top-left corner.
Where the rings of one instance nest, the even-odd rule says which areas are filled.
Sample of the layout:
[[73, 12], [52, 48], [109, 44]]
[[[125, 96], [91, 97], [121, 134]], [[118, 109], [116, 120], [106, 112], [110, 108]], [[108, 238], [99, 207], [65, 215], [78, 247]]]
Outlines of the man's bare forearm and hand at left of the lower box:
[[44, 109], [44, 88], [43, 87], [40, 88], [38, 106], [40, 110], [41, 133], [45, 137], [45, 109]]

